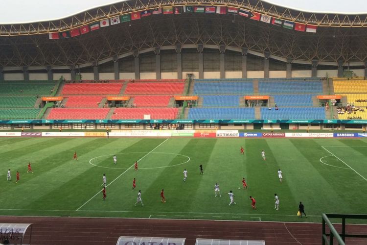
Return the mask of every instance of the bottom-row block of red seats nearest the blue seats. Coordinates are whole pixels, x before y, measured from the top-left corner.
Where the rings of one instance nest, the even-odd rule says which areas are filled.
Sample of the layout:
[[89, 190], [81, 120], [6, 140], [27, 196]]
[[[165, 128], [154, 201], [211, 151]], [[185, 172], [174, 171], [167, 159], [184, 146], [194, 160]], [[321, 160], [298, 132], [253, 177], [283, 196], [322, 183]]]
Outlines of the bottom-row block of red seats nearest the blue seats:
[[112, 119], [144, 119], [144, 115], [151, 119], [176, 119], [178, 112], [178, 108], [116, 108]]

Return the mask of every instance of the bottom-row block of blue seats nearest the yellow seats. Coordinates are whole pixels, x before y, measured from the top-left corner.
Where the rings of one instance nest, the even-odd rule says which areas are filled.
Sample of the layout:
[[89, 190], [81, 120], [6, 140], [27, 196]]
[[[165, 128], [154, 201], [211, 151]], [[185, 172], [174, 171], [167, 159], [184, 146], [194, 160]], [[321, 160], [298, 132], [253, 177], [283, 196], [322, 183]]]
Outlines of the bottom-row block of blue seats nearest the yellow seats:
[[323, 107], [280, 107], [279, 110], [261, 108], [261, 119], [325, 119]]

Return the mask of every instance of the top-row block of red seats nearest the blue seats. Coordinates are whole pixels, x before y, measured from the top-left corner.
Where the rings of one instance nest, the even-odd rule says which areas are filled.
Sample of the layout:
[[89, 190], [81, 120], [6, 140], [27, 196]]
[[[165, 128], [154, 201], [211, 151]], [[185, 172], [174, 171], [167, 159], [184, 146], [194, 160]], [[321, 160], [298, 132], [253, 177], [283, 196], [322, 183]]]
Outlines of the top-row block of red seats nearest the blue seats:
[[184, 82], [130, 82], [125, 94], [127, 95], [181, 95]]

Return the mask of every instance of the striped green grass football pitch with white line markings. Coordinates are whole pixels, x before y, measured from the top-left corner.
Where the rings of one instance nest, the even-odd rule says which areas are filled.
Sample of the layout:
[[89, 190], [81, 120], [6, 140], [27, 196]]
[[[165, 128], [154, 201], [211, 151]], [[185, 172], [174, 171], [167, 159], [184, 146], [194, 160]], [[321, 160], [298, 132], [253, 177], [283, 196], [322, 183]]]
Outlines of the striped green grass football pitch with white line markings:
[[[0, 215], [320, 222], [321, 213], [367, 213], [366, 139], [0, 138], [0, 156]], [[138, 190], [144, 206], [134, 206]], [[299, 201], [307, 219], [297, 217]]]

